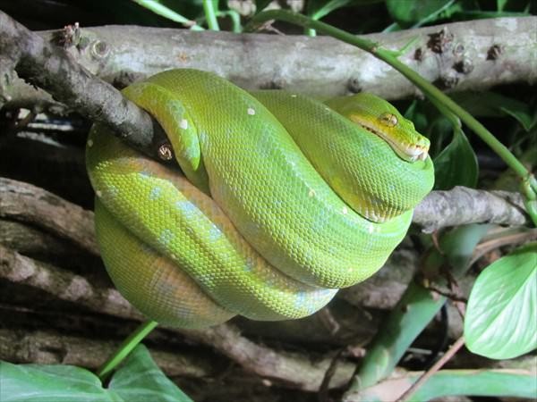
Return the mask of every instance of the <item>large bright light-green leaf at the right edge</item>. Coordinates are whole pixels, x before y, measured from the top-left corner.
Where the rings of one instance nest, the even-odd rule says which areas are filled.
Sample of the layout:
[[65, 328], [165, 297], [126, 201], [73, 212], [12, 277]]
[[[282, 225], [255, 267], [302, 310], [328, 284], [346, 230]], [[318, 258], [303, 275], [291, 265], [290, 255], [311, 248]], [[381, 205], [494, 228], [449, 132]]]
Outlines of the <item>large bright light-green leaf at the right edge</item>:
[[509, 359], [537, 348], [537, 243], [490, 264], [477, 278], [465, 317], [466, 347]]

